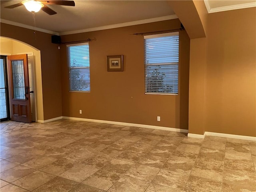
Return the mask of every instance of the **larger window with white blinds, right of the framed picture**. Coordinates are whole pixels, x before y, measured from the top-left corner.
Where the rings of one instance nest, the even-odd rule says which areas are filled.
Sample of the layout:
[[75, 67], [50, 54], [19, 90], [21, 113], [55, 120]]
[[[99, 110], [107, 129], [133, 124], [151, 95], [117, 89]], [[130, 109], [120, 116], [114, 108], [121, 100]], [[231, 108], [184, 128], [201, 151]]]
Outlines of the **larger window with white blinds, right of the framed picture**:
[[178, 94], [179, 33], [144, 36], [145, 93]]

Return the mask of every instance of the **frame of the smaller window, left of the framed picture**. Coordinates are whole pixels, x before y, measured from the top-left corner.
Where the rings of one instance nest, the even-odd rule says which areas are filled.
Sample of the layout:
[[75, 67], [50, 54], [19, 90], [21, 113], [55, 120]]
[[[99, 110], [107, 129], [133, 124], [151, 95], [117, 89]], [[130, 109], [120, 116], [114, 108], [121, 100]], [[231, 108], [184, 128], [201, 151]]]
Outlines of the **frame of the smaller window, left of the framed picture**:
[[[89, 66], [78, 66], [78, 67], [71, 67], [70, 66], [70, 56], [69, 56], [69, 47], [72, 46], [82, 46], [82, 45], [88, 45], [88, 56], [89, 56]], [[76, 44], [67, 44], [66, 45], [66, 51], [67, 51], [67, 64], [68, 64], [68, 91], [69, 92], [82, 92], [82, 93], [90, 93], [91, 92], [91, 78], [90, 78], [90, 47], [89, 47], [89, 42], [84, 42], [84, 43], [76, 43]], [[70, 82], [70, 71], [72, 69], [88, 69], [89, 70], [89, 90], [71, 90], [71, 82]]]

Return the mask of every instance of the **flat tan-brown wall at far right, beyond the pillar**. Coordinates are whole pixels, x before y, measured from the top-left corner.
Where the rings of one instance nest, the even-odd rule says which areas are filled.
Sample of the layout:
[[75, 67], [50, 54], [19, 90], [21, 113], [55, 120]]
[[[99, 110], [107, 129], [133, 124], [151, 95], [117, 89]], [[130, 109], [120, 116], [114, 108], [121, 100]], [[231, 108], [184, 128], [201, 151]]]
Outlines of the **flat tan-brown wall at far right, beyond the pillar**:
[[256, 136], [256, 8], [209, 14], [205, 131]]

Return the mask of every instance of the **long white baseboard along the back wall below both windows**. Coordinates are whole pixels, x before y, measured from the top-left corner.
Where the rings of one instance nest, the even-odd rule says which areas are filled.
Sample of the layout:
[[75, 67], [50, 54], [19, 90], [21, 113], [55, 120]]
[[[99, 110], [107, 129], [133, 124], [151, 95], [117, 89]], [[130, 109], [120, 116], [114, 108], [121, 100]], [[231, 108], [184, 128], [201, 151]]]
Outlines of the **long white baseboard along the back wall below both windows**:
[[90, 121], [90, 122], [97, 122], [97, 123], [108, 123], [108, 124], [116, 124], [116, 125], [124, 125], [124, 126], [141, 127], [141, 128], [160, 129], [160, 130], [168, 130], [168, 131], [183, 132], [183, 133], [188, 132], [187, 129], [178, 129], [178, 128], [176, 129], [176, 128], [170, 128], [170, 127], [154, 126], [154, 125], [143, 125], [143, 124], [106, 121], [106, 120], [97, 120], [97, 119], [85, 119], [85, 118], [66, 117], [66, 116], [63, 116], [62, 118], [69, 119], [69, 120]]

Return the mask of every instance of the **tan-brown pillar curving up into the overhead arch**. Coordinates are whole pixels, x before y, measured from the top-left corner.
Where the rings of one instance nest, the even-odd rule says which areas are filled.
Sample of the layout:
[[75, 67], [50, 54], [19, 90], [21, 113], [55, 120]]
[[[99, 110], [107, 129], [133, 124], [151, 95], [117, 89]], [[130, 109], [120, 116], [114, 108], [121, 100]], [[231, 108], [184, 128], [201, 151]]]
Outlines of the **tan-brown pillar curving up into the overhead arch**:
[[208, 12], [203, 0], [172, 0], [168, 2], [191, 39], [188, 132], [202, 135], [205, 131]]

